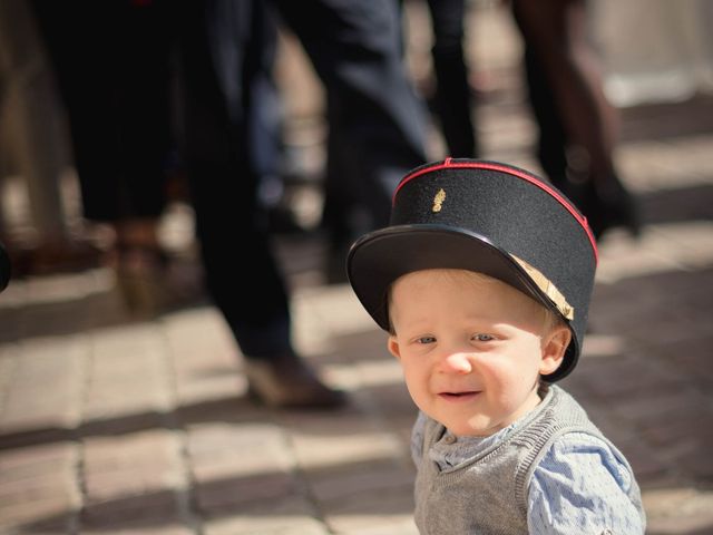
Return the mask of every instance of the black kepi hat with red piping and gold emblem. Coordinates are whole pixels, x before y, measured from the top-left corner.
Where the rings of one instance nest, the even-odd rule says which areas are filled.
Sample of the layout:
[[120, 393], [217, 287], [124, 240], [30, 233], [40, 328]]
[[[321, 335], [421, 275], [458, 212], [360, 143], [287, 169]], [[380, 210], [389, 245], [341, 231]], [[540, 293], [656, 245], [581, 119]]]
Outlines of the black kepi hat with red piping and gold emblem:
[[596, 264], [586, 218], [549, 183], [507, 164], [448, 158], [400, 182], [389, 226], [352, 245], [346, 272], [384, 330], [389, 288], [407, 273], [461, 269], [516, 288], [572, 330], [563, 363], [543, 378], [554, 382], [579, 358]]

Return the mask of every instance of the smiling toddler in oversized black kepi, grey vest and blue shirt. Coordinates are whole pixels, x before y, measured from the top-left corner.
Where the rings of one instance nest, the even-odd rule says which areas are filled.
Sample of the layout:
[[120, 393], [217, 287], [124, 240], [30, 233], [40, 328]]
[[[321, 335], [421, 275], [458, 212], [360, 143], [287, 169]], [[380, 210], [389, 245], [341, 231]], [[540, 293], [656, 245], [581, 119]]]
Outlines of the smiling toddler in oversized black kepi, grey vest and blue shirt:
[[577, 363], [596, 262], [561, 193], [471, 159], [411, 172], [390, 225], [352, 246], [352, 288], [420, 409], [420, 533], [644, 533], [629, 464], [555, 385]]

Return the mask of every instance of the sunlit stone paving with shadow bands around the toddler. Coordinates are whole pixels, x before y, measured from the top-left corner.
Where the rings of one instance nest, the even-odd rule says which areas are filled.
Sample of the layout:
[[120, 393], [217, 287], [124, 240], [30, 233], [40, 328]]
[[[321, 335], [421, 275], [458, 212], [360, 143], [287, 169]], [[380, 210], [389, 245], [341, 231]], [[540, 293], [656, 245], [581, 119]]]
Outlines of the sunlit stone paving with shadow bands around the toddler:
[[[564, 381], [632, 461], [652, 535], [713, 533], [712, 108], [625, 110], [617, 163], [647, 225], [602, 244]], [[517, 91], [482, 103], [479, 132], [487, 157], [536, 168]], [[0, 296], [0, 533], [414, 534], [399, 367], [349, 288], [320, 282], [319, 240], [280, 253], [297, 347], [349, 390], [343, 410], [251, 402], [206, 303], [136, 320], [108, 271], [14, 281]]]

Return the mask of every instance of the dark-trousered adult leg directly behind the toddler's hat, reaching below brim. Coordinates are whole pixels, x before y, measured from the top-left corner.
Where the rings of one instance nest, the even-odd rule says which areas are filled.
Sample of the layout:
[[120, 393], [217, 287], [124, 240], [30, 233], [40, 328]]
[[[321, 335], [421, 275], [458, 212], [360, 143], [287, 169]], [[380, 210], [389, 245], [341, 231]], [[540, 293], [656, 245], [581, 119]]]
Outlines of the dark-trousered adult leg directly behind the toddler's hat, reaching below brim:
[[[426, 160], [426, 109], [403, 65], [395, 1], [324, 1], [309, 10], [287, 1], [276, 4], [326, 90], [321, 230], [326, 236], [328, 282], [344, 282], [349, 246], [388, 222], [399, 175]], [[369, 19], [380, 26], [365, 27]], [[329, 50], [325, 42], [335, 49]]]

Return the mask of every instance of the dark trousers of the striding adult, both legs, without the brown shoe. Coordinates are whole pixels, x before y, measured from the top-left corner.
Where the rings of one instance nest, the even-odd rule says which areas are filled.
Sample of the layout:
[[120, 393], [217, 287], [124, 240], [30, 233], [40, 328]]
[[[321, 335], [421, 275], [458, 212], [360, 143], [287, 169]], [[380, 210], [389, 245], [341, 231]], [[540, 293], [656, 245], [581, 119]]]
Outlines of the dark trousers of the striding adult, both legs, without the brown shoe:
[[[406, 78], [392, 0], [275, 2], [339, 107], [374, 221], [399, 178], [423, 163], [423, 119]], [[186, 2], [182, 17], [184, 157], [208, 289], [243, 352], [291, 350], [287, 291], [256, 197], [246, 116], [258, 69], [251, 30], [268, 2]], [[260, 54], [257, 54], [260, 57]]]

